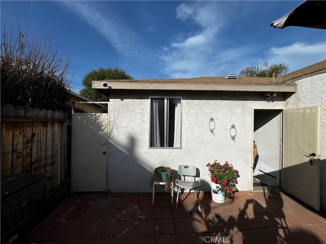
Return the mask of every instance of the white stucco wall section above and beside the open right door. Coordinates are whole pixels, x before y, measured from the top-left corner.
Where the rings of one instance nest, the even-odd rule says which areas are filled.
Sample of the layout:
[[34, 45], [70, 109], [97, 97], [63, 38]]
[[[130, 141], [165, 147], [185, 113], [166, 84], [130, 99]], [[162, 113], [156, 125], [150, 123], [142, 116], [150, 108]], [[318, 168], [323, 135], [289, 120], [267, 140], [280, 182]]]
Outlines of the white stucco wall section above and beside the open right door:
[[295, 82], [297, 92], [285, 101], [286, 108], [320, 106], [320, 207], [326, 210], [326, 74]]

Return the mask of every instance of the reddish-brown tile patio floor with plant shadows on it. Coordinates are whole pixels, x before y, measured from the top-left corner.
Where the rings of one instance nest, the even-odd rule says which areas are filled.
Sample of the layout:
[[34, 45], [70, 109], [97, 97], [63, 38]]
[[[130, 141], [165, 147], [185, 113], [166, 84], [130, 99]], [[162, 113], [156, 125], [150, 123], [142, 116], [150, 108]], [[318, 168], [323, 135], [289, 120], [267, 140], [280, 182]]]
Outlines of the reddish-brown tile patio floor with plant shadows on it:
[[215, 203], [193, 193], [87, 193], [68, 197], [30, 235], [33, 244], [326, 243], [326, 215], [283, 192], [238, 192]]

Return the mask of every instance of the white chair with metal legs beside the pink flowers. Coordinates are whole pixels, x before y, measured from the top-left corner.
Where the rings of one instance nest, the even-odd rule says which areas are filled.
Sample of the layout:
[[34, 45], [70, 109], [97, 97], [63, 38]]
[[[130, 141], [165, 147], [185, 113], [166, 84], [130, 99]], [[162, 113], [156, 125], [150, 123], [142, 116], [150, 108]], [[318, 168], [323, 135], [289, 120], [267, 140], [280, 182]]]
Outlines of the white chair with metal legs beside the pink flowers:
[[[199, 193], [200, 190], [197, 188], [200, 187], [199, 180], [196, 180], [196, 167], [193, 165], [179, 165], [178, 169], [178, 178], [175, 180], [175, 185], [177, 187], [177, 203], [175, 205], [175, 209], [178, 209], [178, 200], [179, 200], [179, 194], [181, 192], [181, 189], [189, 189], [189, 191], [194, 190], [196, 193], [196, 198], [198, 198], [198, 210], [201, 211], [201, 205], [199, 200]], [[190, 178], [190, 180], [186, 180]]]

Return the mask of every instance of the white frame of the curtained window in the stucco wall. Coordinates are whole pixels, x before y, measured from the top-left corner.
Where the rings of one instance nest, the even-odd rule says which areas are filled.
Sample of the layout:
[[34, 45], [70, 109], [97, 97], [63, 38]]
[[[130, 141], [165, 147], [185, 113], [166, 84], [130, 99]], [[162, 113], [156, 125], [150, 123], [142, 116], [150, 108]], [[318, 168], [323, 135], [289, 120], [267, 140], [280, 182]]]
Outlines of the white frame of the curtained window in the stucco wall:
[[[164, 99], [165, 101], [167, 99], [180, 99], [180, 106], [181, 106], [181, 112], [180, 112], [180, 146], [179, 147], [169, 147], [169, 146], [151, 146], [151, 130], [152, 130], [152, 99]], [[167, 109], [166, 106], [164, 107], [164, 120], [166, 120], [166, 114]], [[166, 124], [166, 123], [165, 123]], [[182, 149], [182, 97], [180, 96], [149, 96], [149, 134], [148, 134], [148, 148], [149, 149]], [[168, 128], [165, 130], [165, 133], [168, 133]]]

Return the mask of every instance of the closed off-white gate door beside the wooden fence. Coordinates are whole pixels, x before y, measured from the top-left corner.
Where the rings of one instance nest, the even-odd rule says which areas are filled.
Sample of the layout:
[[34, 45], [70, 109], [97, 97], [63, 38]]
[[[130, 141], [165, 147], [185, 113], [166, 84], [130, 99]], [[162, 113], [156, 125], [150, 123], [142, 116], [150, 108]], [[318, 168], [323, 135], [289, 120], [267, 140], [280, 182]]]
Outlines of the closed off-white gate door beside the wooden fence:
[[73, 114], [73, 191], [108, 192], [108, 114]]

